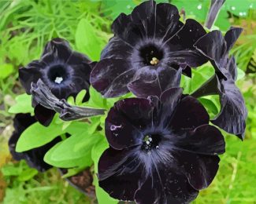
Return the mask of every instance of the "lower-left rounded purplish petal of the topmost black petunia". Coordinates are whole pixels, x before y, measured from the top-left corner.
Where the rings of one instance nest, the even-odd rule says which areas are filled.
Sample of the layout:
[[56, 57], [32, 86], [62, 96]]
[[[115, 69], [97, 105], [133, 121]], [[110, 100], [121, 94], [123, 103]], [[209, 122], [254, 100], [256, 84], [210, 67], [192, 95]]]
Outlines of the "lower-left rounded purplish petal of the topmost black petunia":
[[[121, 59], [103, 59], [95, 65], [94, 69], [91, 71], [91, 85], [102, 95], [105, 95], [109, 90], [113, 89], [113, 86], [119, 86], [120, 91], [116, 91], [116, 93], [111, 93], [112, 97], [118, 97], [124, 93], [128, 93], [128, 89], [125, 88], [127, 86], [128, 80], [132, 75], [130, 73], [126, 75], [131, 70], [132, 67], [126, 60]], [[128, 76], [128, 77], [126, 77]], [[117, 82], [121, 84], [113, 84], [114, 80], [118, 77], [124, 80], [117, 80]], [[108, 93], [109, 94], [109, 93]], [[105, 97], [108, 97], [107, 95]]]

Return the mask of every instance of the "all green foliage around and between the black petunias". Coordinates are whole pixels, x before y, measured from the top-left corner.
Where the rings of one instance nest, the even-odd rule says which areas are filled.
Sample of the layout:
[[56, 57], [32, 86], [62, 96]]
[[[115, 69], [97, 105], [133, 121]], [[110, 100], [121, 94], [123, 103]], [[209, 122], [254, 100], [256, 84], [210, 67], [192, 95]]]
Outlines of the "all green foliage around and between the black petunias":
[[[125, 1], [2, 1], [0, 2], [0, 133], [10, 124], [11, 114], [33, 112], [31, 97], [22, 93], [17, 82], [17, 68], [39, 58], [46, 41], [51, 38], [66, 38], [72, 47], [81, 53], [87, 53], [92, 60], [98, 60], [100, 51], [106, 45], [110, 34], [110, 24], [119, 13], [130, 13], [139, 0]], [[168, 2], [168, 1], [158, 1]], [[184, 9], [186, 18], [195, 18], [203, 22], [206, 19], [210, 1], [173, 0], [179, 9]], [[254, 147], [256, 145], [256, 4], [252, 0], [243, 3], [227, 0], [219, 13], [215, 27], [226, 31], [230, 25], [245, 28], [238, 45], [232, 49], [239, 66], [237, 83], [243, 91], [249, 111], [246, 140], [243, 144], [236, 138], [227, 136], [227, 152], [221, 158], [220, 171], [210, 188], [202, 191], [195, 203], [252, 203], [256, 200], [254, 183], [256, 165]], [[235, 9], [233, 9], [235, 8]], [[241, 13], [243, 15], [241, 15]], [[252, 30], [252, 31], [251, 31]], [[254, 68], [254, 73], [251, 70]], [[250, 73], [250, 74], [248, 74]], [[195, 91], [206, 79], [213, 75], [210, 64], [192, 71], [193, 79], [183, 77], [185, 93]], [[69, 97], [69, 103], [87, 107], [109, 109], [117, 99], [102, 99], [101, 95], [90, 88], [90, 100], [82, 102], [85, 91], [76, 98]], [[22, 94], [20, 94], [22, 93]], [[20, 95], [19, 95], [20, 94]], [[125, 97], [131, 97], [128, 94]], [[218, 97], [202, 97], [200, 101], [210, 112], [211, 118], [220, 109]], [[9, 113], [7, 110], [9, 109]], [[86, 122], [62, 122], [58, 115], [48, 128], [39, 123], [30, 126], [19, 140], [17, 151], [25, 151], [46, 144], [61, 135], [63, 141], [51, 148], [45, 161], [58, 167], [76, 167], [83, 169], [98, 163], [98, 158], [108, 146], [102, 129], [106, 115], [90, 118]], [[86, 129], [86, 131], [84, 131]], [[66, 137], [65, 133], [71, 136]], [[1, 133], [1, 136], [4, 133]], [[9, 136], [8, 136], [9, 137]], [[33, 140], [31, 138], [33, 137]], [[37, 138], [35, 140], [35, 138]], [[1, 141], [1, 140], [0, 140]], [[74, 144], [74, 145], [72, 145]], [[72, 161], [72, 162], [71, 162]], [[98, 172], [97, 165], [94, 173]], [[74, 172], [76, 173], [76, 171]], [[8, 162], [2, 167], [8, 188], [4, 203], [57, 202], [89, 203], [65, 181], [61, 181], [56, 169], [46, 174], [38, 173], [24, 162]], [[69, 174], [69, 175], [72, 175]], [[0, 180], [1, 181], [1, 180]], [[24, 182], [26, 181], [26, 182]], [[248, 185], [247, 182], [250, 181]], [[96, 185], [99, 203], [117, 203]], [[244, 189], [247, 188], [245, 191]], [[13, 197], [15, 195], [15, 197]], [[1, 198], [0, 198], [1, 200]], [[108, 202], [107, 202], [108, 200]], [[109, 201], [110, 200], [110, 201]]]

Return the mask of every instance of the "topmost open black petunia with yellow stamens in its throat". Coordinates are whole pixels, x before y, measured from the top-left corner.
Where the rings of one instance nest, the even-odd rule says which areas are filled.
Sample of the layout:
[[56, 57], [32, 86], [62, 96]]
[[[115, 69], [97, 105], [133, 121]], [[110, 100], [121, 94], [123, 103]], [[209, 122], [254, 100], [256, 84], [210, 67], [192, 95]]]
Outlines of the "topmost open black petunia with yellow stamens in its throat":
[[193, 46], [206, 31], [195, 20], [183, 24], [179, 19], [174, 5], [154, 1], [138, 5], [131, 15], [121, 13], [112, 24], [114, 37], [91, 72], [91, 85], [104, 97], [129, 90], [137, 97], [160, 96], [180, 86], [179, 68], [190, 71], [207, 59]]

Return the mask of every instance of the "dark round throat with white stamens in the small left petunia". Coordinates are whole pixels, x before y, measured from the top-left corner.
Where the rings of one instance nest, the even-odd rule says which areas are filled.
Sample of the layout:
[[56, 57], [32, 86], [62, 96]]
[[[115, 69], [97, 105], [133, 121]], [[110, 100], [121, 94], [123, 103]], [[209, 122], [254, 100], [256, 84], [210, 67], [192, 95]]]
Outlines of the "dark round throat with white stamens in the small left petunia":
[[54, 82], [55, 84], [61, 84], [69, 77], [66, 68], [63, 65], [59, 64], [50, 67], [47, 75], [50, 81]]

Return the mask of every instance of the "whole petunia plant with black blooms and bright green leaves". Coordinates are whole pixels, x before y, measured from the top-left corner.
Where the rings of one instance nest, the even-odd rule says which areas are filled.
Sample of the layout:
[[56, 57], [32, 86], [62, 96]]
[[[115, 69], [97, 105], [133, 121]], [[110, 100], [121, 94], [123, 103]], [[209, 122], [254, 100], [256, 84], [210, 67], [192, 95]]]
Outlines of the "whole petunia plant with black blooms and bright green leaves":
[[[214, 2], [208, 28], [223, 3]], [[27, 94], [9, 110], [9, 150], [39, 171], [57, 167], [99, 203], [191, 202], [217, 175], [224, 132], [244, 139], [247, 109], [229, 55], [243, 29], [209, 31], [154, 1], [111, 28], [97, 61], [54, 38], [20, 68]], [[72, 179], [81, 175], [93, 177], [86, 189]]]

